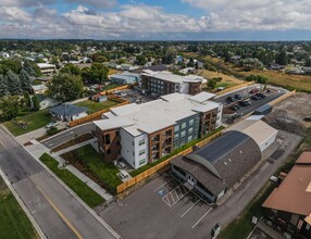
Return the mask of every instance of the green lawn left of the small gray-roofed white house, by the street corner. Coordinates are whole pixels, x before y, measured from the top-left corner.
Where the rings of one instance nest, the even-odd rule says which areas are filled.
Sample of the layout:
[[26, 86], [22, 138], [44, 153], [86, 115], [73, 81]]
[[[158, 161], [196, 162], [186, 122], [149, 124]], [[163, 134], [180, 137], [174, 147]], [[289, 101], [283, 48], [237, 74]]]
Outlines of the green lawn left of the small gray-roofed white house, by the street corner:
[[20, 136], [45, 127], [49, 122], [51, 122], [51, 117], [48, 110], [42, 110], [38, 112], [27, 112], [25, 115], [16, 117], [16, 122], [26, 122], [27, 129], [17, 126], [13, 122], [5, 122], [4, 125], [14, 136]]

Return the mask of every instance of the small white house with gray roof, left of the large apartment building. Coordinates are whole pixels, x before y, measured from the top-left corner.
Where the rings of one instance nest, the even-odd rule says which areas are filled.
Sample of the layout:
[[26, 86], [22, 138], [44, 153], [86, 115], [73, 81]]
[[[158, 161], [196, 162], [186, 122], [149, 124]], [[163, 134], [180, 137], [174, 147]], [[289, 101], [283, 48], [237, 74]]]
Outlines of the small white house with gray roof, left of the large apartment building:
[[87, 108], [76, 106], [74, 104], [60, 104], [49, 110], [53, 117], [61, 121], [71, 122], [88, 115]]

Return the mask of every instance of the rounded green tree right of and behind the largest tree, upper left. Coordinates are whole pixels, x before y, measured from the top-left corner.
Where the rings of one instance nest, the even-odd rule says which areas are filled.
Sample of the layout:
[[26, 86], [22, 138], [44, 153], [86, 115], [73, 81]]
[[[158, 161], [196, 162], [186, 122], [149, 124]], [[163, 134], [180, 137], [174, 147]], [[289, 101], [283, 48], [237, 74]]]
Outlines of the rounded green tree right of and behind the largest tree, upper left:
[[84, 80], [102, 84], [107, 80], [109, 68], [101, 63], [91, 63], [90, 67], [84, 67], [82, 76]]

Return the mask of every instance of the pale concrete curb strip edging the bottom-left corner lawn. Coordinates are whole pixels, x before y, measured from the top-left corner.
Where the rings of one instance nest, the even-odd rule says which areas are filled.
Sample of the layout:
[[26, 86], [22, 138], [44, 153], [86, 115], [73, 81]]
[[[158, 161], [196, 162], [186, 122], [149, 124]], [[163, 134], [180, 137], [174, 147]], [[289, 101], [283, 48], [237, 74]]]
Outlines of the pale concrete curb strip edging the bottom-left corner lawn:
[[45, 232], [41, 230], [41, 228], [39, 227], [39, 225], [37, 224], [37, 221], [35, 219], [35, 217], [32, 215], [32, 213], [29, 212], [29, 210], [27, 209], [27, 206], [25, 205], [25, 203], [23, 202], [23, 200], [20, 198], [18, 193], [15, 191], [14, 187], [11, 185], [9, 178], [5, 176], [5, 174], [2, 172], [2, 169], [0, 168], [0, 176], [3, 178], [5, 185], [8, 186], [8, 188], [11, 190], [11, 192], [13, 193], [13, 196], [15, 197], [16, 201], [18, 202], [18, 204], [21, 205], [21, 207], [23, 209], [23, 211], [26, 213], [27, 217], [29, 218], [30, 223], [33, 224], [35, 230], [38, 232], [39, 237], [42, 239], [47, 239], [47, 236], [45, 235]]

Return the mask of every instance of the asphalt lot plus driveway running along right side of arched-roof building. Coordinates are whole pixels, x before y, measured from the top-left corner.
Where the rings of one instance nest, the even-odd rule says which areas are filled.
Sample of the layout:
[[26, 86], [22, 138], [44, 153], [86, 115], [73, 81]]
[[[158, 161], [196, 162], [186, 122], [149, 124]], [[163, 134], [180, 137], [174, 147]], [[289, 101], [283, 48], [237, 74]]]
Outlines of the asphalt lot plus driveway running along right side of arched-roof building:
[[[265, 156], [269, 160], [217, 207], [190, 192], [181, 194], [184, 190], [164, 174], [102, 210], [100, 215], [126, 239], [211, 238], [212, 227], [217, 222], [224, 227], [236, 219], [300, 140], [296, 135], [279, 131], [275, 148]], [[277, 153], [272, 153], [275, 149]]]

